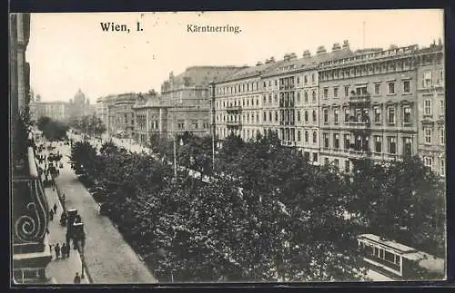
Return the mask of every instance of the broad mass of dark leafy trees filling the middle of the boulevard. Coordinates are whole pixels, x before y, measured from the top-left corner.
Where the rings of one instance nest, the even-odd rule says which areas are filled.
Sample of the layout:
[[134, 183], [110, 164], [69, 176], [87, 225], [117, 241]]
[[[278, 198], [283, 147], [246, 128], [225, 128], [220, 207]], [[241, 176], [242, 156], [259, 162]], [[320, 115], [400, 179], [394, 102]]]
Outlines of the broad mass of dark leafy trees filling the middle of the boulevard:
[[71, 151], [102, 214], [159, 281], [365, 279], [361, 233], [444, 254], [443, 185], [419, 158], [358, 161], [348, 175], [308, 163], [273, 135], [231, 136], [211, 171], [209, 138], [176, 140], [177, 164], [209, 173], [209, 183], [187, 168], [175, 178], [168, 140], [156, 142], [154, 155], [112, 142], [99, 152], [73, 142]]

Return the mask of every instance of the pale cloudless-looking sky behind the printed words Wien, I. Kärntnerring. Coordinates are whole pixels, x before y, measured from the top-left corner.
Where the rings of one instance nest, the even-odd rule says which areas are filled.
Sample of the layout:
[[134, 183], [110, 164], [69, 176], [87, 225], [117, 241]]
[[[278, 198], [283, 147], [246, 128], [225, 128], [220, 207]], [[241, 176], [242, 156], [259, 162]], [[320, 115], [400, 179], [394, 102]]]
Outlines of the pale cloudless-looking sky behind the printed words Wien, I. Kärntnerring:
[[[103, 32], [101, 22], [130, 33]], [[238, 25], [241, 33], [190, 33], [187, 24]], [[69, 101], [80, 88], [95, 103], [109, 93], [159, 92], [171, 71], [188, 66], [254, 65], [343, 40], [356, 50], [439, 38], [442, 10], [32, 14], [26, 59], [43, 101]]]

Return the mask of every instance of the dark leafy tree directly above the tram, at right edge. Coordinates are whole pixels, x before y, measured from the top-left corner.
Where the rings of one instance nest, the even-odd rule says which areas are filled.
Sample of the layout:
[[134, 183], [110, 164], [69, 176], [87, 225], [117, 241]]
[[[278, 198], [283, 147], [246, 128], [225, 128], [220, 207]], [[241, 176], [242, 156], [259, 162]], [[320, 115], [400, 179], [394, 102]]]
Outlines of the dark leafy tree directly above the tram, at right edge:
[[445, 188], [419, 157], [358, 161], [349, 212], [369, 230], [431, 254], [445, 254]]

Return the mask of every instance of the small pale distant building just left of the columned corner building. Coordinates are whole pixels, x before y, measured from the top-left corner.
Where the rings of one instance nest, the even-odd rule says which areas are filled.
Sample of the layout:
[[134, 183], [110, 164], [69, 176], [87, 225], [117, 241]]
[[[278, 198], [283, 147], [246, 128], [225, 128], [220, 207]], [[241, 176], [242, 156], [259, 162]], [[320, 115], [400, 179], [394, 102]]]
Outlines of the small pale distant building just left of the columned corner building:
[[121, 93], [110, 98], [108, 109], [108, 132], [124, 138], [135, 136], [135, 115], [133, 105], [136, 93]]

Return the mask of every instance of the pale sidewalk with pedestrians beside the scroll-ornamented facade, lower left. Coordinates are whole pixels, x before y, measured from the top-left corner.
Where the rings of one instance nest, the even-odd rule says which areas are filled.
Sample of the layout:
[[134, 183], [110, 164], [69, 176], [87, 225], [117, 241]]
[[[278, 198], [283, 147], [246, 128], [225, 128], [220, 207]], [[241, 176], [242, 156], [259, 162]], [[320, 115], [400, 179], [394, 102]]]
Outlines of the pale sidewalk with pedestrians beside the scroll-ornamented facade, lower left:
[[[62, 214], [63, 209], [60, 205], [60, 200], [58, 200], [56, 191], [54, 191], [52, 187], [45, 188], [45, 196], [50, 209], [54, 207], [55, 203], [57, 206], [54, 220], [50, 220], [48, 225], [49, 244], [53, 245], [51, 250], [53, 259], [45, 269], [45, 273], [46, 276], [53, 279], [54, 284], [73, 284], [73, 278], [75, 278], [76, 272], [79, 273], [79, 276], [82, 273], [82, 261], [79, 252], [76, 249], [73, 249], [72, 245], [69, 259], [56, 259], [54, 245], [60, 243], [60, 246], [62, 246], [66, 241], [66, 227], [60, 225], [60, 215]], [[81, 284], [88, 283], [89, 280], [87, 276], [86, 278], [81, 279]]]

